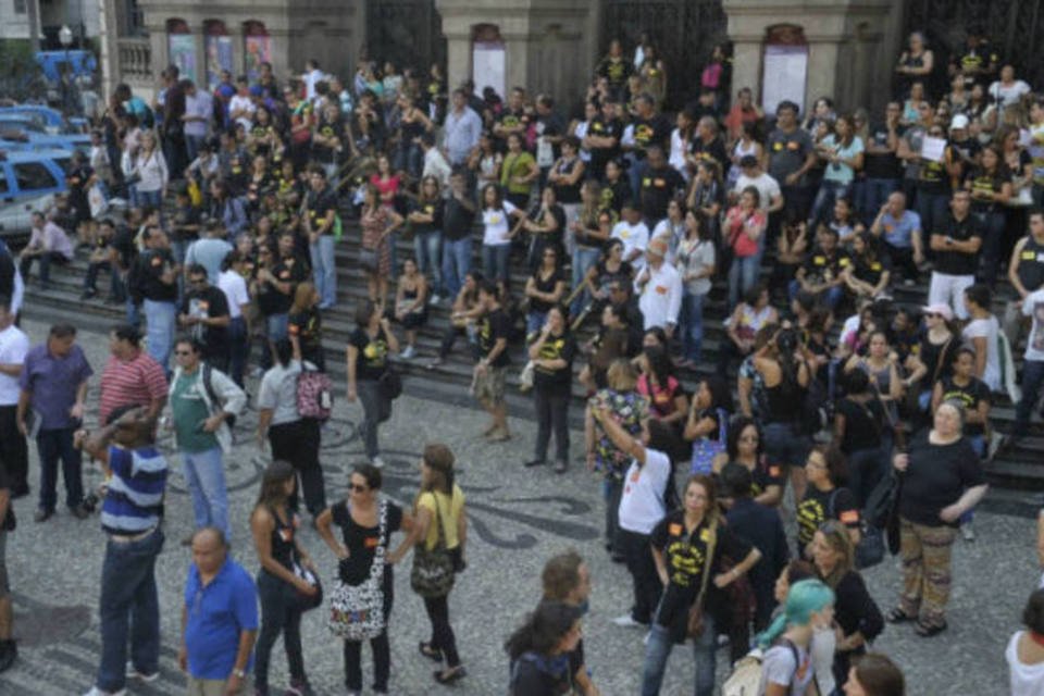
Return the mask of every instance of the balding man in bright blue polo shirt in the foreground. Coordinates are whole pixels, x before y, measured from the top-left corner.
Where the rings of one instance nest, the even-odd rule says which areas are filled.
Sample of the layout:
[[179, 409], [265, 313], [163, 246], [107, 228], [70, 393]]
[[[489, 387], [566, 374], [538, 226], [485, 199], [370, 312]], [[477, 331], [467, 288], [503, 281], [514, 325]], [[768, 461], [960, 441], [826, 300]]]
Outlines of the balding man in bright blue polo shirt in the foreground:
[[189, 696], [248, 694], [258, 634], [258, 591], [228, 558], [228, 540], [214, 526], [192, 535], [192, 564], [182, 607], [177, 661], [188, 672]]

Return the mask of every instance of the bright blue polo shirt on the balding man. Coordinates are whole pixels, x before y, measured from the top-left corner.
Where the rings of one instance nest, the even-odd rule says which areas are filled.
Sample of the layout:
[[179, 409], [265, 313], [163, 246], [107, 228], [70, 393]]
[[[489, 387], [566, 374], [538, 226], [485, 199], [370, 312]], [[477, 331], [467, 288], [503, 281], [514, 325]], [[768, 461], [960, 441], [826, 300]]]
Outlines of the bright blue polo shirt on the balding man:
[[[227, 679], [236, 666], [239, 634], [258, 629], [258, 591], [243, 566], [225, 560], [210, 584], [202, 586], [192, 563], [185, 583], [185, 645], [188, 673], [196, 679]], [[253, 668], [253, 654], [246, 671]]]

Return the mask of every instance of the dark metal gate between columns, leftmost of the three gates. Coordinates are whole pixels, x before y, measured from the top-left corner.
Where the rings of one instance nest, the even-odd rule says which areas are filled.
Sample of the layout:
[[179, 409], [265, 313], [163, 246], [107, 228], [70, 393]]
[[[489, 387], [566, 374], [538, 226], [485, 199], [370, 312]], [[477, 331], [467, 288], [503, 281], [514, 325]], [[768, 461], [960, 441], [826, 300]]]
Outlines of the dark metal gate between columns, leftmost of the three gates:
[[372, 60], [421, 71], [422, 82], [432, 63], [445, 74], [446, 37], [435, 0], [366, 0], [366, 48]]

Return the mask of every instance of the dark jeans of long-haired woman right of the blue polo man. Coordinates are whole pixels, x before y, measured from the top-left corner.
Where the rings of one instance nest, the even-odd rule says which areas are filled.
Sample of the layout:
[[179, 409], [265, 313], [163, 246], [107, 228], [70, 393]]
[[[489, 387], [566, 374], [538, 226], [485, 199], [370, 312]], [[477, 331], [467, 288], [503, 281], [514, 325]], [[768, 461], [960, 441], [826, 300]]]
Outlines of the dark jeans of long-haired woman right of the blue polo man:
[[259, 692], [264, 693], [269, 686], [272, 648], [281, 633], [290, 679], [304, 680], [301, 609], [297, 604], [297, 589], [263, 569], [258, 572], [258, 598], [261, 601], [261, 631], [254, 649], [253, 683]]

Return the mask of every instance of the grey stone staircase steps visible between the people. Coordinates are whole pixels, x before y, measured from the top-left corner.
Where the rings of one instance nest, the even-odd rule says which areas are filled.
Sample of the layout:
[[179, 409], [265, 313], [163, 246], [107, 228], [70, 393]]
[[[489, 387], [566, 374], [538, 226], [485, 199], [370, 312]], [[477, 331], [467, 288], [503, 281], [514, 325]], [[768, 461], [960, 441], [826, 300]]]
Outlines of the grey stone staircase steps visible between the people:
[[[346, 378], [345, 346], [353, 327], [351, 314], [357, 301], [365, 297], [365, 286], [357, 262], [359, 236], [358, 226], [346, 220], [345, 237], [336, 251], [338, 302], [335, 308], [323, 314], [323, 345], [327, 352], [327, 368], [340, 385], [344, 385]], [[478, 245], [476, 245], [476, 254], [472, 264], [472, 268], [475, 269], [481, 268], [477, 251]], [[402, 259], [412, 256], [412, 253], [411, 241], [400, 234], [397, 245], [397, 256], [400, 263]], [[517, 294], [520, 294], [525, 284], [521, 254], [512, 256], [511, 268], [511, 287]], [[104, 274], [98, 282], [99, 297], [87, 301], [80, 300], [79, 295], [83, 291], [86, 270], [85, 256], [78, 253], [69, 266], [55, 268], [52, 271], [52, 284], [49, 289], [41, 289], [38, 284], [30, 282], [26, 288], [24, 314], [44, 322], [67, 321], [82, 331], [98, 334], [108, 332], [113, 324], [122, 321], [124, 307], [105, 304], [102, 301], [101, 298], [108, 287], [108, 277]], [[768, 277], [767, 270], [765, 277]], [[895, 301], [904, 306], [921, 306], [925, 301], [925, 295], [927, 288], [923, 286], [896, 286], [894, 288]], [[471, 351], [463, 337], [458, 337], [453, 351], [442, 365], [431, 370], [426, 366], [437, 355], [439, 340], [449, 325], [449, 306], [450, 302], [444, 299], [438, 307], [430, 308], [427, 324], [418, 334], [418, 356], [409, 361], [398, 360], [397, 365], [405, 377], [406, 390], [410, 395], [452, 407], [477, 408], [468, 389], [471, 383], [473, 363]], [[717, 283], [705, 304], [704, 364], [696, 370], [680, 371], [686, 387], [694, 387], [700, 376], [711, 374], [717, 370], [720, 347], [724, 341], [728, 341], [722, 319], [729, 315], [730, 310], [731, 308], [728, 307], [725, 299], [725, 287], [723, 284]], [[998, 314], [1003, 312], [1000, 302], [997, 302], [995, 311]], [[580, 331], [577, 340], [583, 341], [591, 336], [595, 322], [594, 318], [587, 320], [585, 326]], [[837, 324], [840, 325], [840, 322]], [[396, 331], [400, 330], [397, 328]], [[401, 337], [401, 333], [399, 333], [399, 336]], [[254, 358], [258, 355], [257, 350], [254, 348], [252, 352]], [[1014, 352], [1017, 362], [1021, 362], [1022, 348], [1019, 347]], [[535, 411], [532, 398], [527, 394], [522, 394], [518, 388], [519, 372], [525, 364], [524, 347], [512, 345], [510, 356], [512, 366], [508, 374], [509, 388], [507, 396], [509, 413], [514, 417], [533, 419]], [[576, 362], [575, 371], [579, 372], [581, 363], [582, 361]], [[574, 408], [571, 409], [570, 413], [570, 420], [574, 427], [582, 427], [584, 396], [582, 387], [574, 381]], [[1000, 434], [1007, 433], [1010, 430], [1014, 415], [1014, 406], [1007, 397], [1000, 397], [992, 410], [995, 431]], [[1026, 506], [1037, 505], [1039, 496], [1036, 492], [1044, 492], [1042, 453], [1044, 453], [1044, 426], [1036, 423], [1031, 430], [1031, 436], [1023, 440], [1021, 447], [1004, 452], [989, 464], [990, 480], [995, 484], [995, 489], [1000, 489], [991, 494], [991, 498], [1004, 500], [1004, 505], [1015, 505], [1022, 511], [1028, 509]]]

